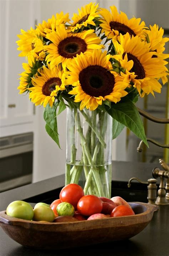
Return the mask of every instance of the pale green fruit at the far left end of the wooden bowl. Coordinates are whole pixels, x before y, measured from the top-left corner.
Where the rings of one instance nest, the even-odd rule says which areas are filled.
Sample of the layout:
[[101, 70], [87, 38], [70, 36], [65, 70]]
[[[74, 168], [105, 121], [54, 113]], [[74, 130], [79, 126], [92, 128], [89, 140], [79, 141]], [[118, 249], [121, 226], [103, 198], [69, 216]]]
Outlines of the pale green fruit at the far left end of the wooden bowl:
[[32, 206], [24, 201], [14, 201], [6, 208], [6, 214], [20, 219], [31, 220], [34, 217]]

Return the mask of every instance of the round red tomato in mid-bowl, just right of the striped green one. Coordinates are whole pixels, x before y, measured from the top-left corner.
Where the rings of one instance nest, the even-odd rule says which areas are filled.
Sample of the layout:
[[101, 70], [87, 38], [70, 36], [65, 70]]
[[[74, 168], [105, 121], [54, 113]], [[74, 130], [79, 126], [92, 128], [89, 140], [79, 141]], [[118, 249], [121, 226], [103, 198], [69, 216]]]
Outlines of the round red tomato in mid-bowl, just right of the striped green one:
[[102, 208], [102, 201], [96, 195], [84, 195], [77, 204], [78, 212], [85, 216], [101, 213]]

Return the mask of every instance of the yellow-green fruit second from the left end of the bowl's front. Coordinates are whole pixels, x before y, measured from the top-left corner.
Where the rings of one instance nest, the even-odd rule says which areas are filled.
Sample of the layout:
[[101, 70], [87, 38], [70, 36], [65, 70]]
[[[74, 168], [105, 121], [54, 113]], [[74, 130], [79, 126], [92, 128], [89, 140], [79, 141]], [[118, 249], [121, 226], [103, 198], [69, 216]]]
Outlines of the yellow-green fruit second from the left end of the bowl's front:
[[44, 205], [39, 205], [34, 208], [34, 221], [48, 221], [53, 222], [55, 219], [55, 213], [53, 210]]

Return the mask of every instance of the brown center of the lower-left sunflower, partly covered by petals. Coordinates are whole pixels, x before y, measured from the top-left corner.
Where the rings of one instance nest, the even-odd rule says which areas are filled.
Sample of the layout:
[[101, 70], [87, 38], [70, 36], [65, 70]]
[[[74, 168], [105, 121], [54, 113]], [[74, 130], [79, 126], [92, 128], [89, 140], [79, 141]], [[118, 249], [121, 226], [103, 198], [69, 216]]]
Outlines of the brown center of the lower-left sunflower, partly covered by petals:
[[51, 92], [56, 89], [56, 85], [60, 86], [62, 81], [59, 77], [49, 78], [42, 86], [42, 93], [46, 96], [50, 96]]

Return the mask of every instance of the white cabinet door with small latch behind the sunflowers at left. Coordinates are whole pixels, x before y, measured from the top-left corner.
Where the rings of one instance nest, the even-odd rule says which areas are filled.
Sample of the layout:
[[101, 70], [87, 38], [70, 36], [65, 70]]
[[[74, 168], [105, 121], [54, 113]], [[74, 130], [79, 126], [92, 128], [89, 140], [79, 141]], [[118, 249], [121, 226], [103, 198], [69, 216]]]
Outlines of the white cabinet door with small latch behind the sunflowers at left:
[[[0, 127], [29, 124], [34, 120], [33, 104], [26, 95], [19, 95], [20, 74], [25, 58], [18, 57], [16, 40], [20, 29], [30, 29], [39, 19], [40, 4], [36, 0], [0, 1]], [[2, 36], [3, 35], [3, 36]], [[2, 135], [1, 135], [2, 136]]]

